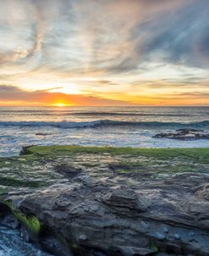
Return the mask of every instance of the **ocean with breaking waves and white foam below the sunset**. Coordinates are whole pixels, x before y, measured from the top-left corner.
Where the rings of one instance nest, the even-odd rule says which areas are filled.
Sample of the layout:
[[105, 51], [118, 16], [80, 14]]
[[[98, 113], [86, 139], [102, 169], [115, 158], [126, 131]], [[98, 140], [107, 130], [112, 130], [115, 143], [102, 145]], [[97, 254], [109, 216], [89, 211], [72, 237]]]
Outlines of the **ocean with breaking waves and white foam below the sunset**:
[[209, 147], [152, 137], [179, 128], [209, 131], [209, 107], [0, 107], [0, 156], [28, 145]]

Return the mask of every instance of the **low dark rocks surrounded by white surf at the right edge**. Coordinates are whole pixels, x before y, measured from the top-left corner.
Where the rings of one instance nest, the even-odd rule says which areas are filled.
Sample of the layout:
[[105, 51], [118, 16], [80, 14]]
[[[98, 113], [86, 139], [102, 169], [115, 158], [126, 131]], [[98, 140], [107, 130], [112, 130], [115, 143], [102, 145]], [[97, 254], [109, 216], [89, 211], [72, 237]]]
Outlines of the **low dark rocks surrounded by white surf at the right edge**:
[[204, 130], [179, 129], [174, 132], [162, 132], [154, 138], [168, 138], [181, 141], [209, 140], [209, 133]]

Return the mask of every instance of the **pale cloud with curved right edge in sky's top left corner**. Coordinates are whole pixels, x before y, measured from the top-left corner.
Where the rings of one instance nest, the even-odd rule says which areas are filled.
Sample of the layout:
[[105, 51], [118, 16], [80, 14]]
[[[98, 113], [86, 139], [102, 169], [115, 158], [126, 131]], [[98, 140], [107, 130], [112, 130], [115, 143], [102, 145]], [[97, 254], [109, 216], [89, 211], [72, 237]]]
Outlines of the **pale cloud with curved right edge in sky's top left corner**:
[[[46, 29], [45, 18], [41, 13], [41, 7], [33, 4], [33, 1], [28, 1], [26, 6], [24, 1], [2, 2], [0, 14], [3, 17], [0, 18], [0, 22], [5, 26], [2, 32], [8, 46], [0, 47], [0, 64], [21, 64], [41, 51]], [[4, 12], [8, 16], [2, 15]]]

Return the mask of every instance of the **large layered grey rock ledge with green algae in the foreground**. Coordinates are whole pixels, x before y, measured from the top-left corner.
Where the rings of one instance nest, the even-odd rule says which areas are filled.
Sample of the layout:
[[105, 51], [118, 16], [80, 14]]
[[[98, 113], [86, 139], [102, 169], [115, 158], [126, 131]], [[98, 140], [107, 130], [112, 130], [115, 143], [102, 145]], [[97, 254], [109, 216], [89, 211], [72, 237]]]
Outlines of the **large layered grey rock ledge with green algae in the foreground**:
[[23, 153], [0, 159], [2, 220], [9, 209], [49, 252], [209, 255], [209, 148]]

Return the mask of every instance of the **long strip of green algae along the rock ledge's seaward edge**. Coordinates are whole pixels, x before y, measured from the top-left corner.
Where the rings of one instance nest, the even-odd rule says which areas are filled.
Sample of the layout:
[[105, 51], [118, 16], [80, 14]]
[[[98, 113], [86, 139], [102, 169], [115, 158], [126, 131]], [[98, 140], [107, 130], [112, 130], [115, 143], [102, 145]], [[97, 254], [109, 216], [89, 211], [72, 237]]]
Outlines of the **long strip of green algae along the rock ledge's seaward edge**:
[[143, 148], [143, 147], [80, 147], [80, 146], [36, 146], [26, 147], [25, 154], [38, 154], [40, 156], [57, 156], [70, 153], [110, 153], [112, 155], [145, 156], [158, 159], [175, 158], [179, 156], [189, 157], [196, 160], [204, 159], [209, 164], [209, 148]]

